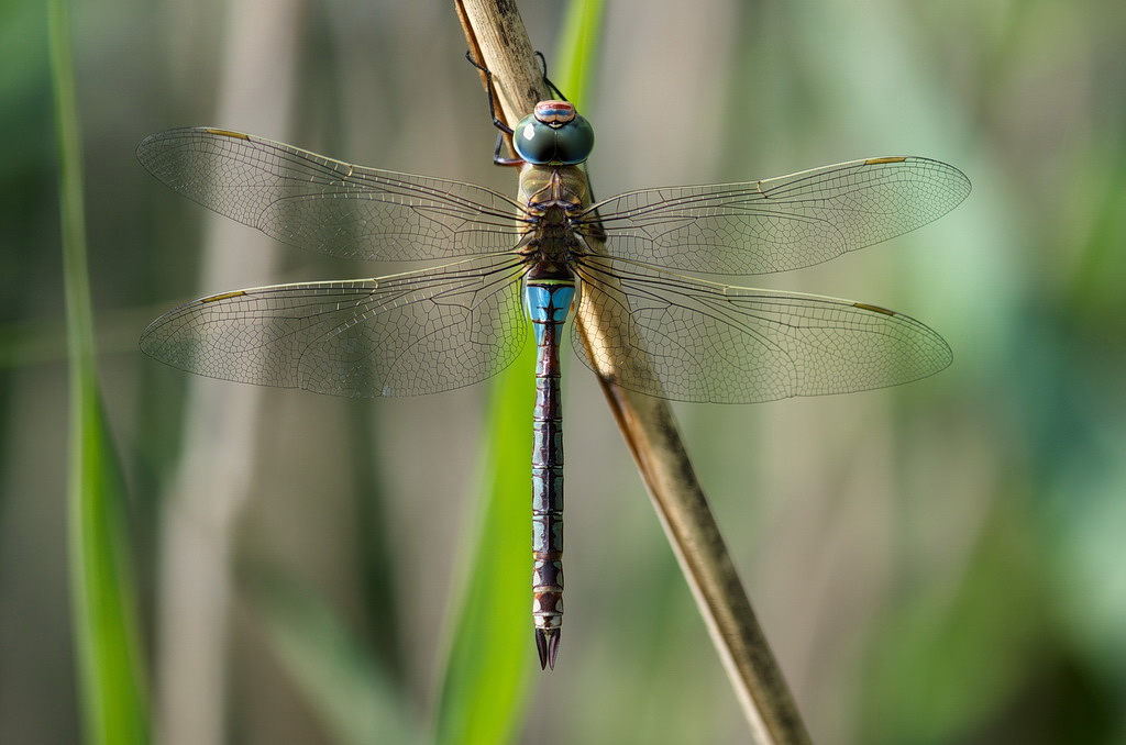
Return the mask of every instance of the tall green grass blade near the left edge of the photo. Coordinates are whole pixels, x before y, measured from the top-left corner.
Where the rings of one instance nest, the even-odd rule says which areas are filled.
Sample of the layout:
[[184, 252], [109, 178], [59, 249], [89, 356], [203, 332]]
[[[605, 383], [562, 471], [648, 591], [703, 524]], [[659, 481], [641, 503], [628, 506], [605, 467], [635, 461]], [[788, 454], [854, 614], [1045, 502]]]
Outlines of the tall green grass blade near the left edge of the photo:
[[93, 365], [70, 19], [65, 0], [51, 0], [47, 11], [70, 357], [68, 510], [83, 740], [88, 745], [133, 745], [149, 742], [149, 715], [133, 582], [123, 541], [123, 479]]

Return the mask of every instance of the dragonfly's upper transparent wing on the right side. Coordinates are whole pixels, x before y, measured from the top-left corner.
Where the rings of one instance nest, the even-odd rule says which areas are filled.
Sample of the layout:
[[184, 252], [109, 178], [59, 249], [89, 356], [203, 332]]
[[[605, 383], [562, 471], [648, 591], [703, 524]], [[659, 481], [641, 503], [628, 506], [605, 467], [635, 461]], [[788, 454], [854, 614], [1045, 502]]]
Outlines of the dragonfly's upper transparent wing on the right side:
[[600, 219], [610, 254], [662, 268], [762, 275], [913, 231], [968, 194], [953, 165], [876, 158], [765, 181], [628, 191], [588, 209], [579, 231], [597, 233]]

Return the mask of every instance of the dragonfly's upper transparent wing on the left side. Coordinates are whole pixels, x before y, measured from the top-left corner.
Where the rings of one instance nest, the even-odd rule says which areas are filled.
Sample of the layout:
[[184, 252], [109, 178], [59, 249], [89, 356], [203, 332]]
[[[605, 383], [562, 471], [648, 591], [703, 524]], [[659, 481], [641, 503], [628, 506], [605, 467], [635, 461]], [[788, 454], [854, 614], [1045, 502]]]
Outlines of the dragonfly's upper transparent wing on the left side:
[[455, 259], [510, 250], [518, 205], [490, 189], [350, 165], [225, 129], [146, 137], [137, 160], [180, 194], [267, 235], [345, 259]]

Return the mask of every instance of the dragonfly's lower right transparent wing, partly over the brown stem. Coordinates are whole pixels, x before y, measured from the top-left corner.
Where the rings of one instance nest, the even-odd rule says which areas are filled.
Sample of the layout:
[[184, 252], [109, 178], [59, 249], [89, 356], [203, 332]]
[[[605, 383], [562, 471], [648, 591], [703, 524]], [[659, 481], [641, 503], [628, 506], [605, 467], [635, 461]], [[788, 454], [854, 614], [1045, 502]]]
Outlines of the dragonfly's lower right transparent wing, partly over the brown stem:
[[[623, 387], [673, 401], [754, 403], [879, 388], [950, 363], [937, 333], [863, 303], [774, 293], [583, 259], [581, 313], [604, 317], [588, 356]], [[647, 352], [647, 361], [646, 361]]]

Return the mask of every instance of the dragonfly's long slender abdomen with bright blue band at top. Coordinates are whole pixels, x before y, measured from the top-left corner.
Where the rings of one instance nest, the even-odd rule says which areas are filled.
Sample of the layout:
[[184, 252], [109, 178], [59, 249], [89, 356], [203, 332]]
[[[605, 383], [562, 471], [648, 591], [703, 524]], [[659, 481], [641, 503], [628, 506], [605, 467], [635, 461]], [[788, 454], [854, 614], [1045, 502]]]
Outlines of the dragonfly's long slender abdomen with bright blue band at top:
[[525, 307], [536, 332], [531, 450], [531, 614], [539, 666], [554, 667], [563, 623], [563, 407], [558, 339], [574, 279], [528, 279]]

